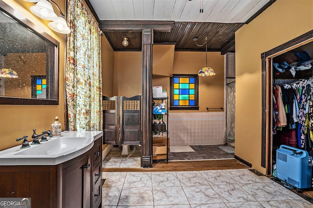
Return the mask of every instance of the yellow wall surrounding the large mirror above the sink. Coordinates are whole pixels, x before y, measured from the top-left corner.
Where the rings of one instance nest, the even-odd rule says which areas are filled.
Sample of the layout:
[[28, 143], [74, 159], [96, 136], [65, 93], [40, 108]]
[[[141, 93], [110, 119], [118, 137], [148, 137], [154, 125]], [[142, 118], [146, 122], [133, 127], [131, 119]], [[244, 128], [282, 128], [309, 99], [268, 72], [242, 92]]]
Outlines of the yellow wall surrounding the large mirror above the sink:
[[[65, 13], [65, 1], [55, 0]], [[49, 21], [39, 19], [30, 13], [29, 7], [33, 3], [22, 0], [4, 0], [11, 7], [17, 9], [25, 17], [36, 24], [37, 30], [42, 30], [55, 38], [60, 43], [59, 47], [59, 105], [0, 105], [0, 150], [21, 145], [16, 142], [18, 137], [28, 135], [31, 137], [32, 129], [37, 132], [51, 129], [51, 123], [55, 116], [64, 124], [64, 74], [65, 74], [65, 38], [63, 34], [54, 33], [47, 24]], [[57, 11], [57, 10], [56, 10]], [[64, 130], [64, 125], [62, 129]], [[31, 140], [31, 139], [29, 139]]]

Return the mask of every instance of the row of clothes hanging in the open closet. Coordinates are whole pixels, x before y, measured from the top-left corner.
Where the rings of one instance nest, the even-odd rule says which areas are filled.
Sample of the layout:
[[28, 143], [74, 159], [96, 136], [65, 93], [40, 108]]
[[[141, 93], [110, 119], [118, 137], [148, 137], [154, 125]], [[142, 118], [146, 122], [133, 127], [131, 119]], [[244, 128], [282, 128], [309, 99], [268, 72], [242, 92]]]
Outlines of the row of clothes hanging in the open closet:
[[298, 80], [273, 86], [273, 135], [277, 145], [297, 147], [313, 155], [313, 85]]

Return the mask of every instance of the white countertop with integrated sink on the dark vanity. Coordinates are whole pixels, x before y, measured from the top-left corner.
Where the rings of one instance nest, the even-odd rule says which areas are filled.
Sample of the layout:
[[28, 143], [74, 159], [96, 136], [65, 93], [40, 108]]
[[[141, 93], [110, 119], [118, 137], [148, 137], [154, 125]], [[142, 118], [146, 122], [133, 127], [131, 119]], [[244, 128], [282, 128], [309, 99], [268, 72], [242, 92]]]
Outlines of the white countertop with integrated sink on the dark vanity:
[[0, 151], [0, 166], [58, 165], [89, 151], [101, 136], [102, 131], [66, 131], [25, 149], [21, 141], [19, 146]]

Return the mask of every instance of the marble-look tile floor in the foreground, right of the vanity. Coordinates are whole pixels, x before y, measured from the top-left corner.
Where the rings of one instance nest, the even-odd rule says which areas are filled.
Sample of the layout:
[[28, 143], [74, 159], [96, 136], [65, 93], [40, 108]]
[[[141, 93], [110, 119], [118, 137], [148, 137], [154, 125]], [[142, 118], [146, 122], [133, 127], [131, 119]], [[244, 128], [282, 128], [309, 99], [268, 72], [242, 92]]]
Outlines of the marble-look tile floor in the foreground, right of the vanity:
[[[127, 159], [125, 159], [127, 160]], [[247, 169], [103, 172], [102, 208], [312, 208]]]

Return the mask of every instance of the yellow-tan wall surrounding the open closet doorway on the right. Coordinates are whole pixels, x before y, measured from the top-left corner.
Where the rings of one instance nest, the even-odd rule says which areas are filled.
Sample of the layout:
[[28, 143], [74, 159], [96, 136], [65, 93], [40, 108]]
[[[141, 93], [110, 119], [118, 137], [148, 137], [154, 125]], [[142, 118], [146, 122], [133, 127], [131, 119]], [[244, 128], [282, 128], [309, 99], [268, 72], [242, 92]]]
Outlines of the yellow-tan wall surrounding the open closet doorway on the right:
[[236, 32], [235, 154], [263, 173], [261, 53], [312, 29], [312, 0], [277, 0]]

